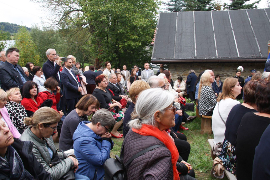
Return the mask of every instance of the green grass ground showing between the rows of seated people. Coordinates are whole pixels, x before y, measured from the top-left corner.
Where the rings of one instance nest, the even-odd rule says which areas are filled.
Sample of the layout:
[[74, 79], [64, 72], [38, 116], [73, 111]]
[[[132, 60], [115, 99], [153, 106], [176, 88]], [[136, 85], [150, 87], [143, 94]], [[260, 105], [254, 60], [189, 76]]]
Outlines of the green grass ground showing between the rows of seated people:
[[[196, 112], [187, 112], [191, 116], [195, 116]], [[191, 145], [191, 152], [189, 155], [188, 163], [194, 168], [197, 180], [205, 179], [217, 179], [210, 176], [212, 168], [211, 148], [207, 142], [207, 139], [213, 139], [211, 135], [201, 135], [201, 118], [196, 118], [193, 122], [184, 125], [189, 130], [182, 131], [187, 137], [187, 141]], [[116, 154], [120, 156], [121, 145], [123, 138], [112, 138], [114, 141], [114, 148], [111, 151], [111, 157], [115, 157]], [[227, 180], [225, 176], [223, 179]]]

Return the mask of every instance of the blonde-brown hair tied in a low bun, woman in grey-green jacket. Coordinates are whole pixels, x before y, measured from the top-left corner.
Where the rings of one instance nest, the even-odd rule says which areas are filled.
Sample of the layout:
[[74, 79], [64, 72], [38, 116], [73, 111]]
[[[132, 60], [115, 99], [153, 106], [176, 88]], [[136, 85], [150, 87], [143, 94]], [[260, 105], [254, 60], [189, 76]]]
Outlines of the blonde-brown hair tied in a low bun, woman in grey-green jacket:
[[42, 107], [38, 109], [32, 117], [24, 118], [23, 123], [27, 126], [32, 125], [34, 128], [36, 128], [39, 123], [53, 124], [59, 122], [60, 119], [61, 116], [57, 111], [50, 107]]

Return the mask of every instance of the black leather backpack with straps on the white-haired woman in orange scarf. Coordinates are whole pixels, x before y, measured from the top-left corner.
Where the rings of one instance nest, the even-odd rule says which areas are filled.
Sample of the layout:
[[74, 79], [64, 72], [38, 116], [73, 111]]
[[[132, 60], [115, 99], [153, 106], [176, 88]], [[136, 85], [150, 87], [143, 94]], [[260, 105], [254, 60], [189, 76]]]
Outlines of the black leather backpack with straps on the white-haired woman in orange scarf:
[[[128, 133], [130, 133], [130, 131]], [[139, 157], [140, 155], [144, 154], [145, 152], [148, 152], [148, 151], [155, 149], [157, 147], [164, 147], [162, 145], [150, 146], [150, 147], [138, 152], [137, 154], [133, 155], [128, 160], [128, 162], [126, 162], [124, 164], [122, 159], [124, 156], [125, 140], [126, 140], [126, 138], [124, 139], [124, 142], [122, 144], [120, 157], [118, 155], [115, 155], [115, 158], [109, 158], [105, 161], [105, 163], [104, 163], [105, 176], [103, 178], [104, 180], [126, 180], [125, 170], [126, 170], [126, 167], [130, 164], [130, 162], [132, 162], [135, 158]]]

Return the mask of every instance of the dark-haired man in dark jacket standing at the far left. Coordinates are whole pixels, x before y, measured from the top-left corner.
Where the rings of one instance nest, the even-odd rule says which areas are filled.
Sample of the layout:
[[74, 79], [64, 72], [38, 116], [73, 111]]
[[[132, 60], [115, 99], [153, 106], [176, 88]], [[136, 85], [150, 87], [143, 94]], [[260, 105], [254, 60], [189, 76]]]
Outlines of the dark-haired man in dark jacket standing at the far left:
[[6, 62], [0, 67], [1, 87], [5, 91], [12, 87], [19, 87], [22, 90], [24, 83], [29, 79], [22, 67], [17, 64], [20, 59], [19, 50], [9, 48], [6, 51], [6, 57]]

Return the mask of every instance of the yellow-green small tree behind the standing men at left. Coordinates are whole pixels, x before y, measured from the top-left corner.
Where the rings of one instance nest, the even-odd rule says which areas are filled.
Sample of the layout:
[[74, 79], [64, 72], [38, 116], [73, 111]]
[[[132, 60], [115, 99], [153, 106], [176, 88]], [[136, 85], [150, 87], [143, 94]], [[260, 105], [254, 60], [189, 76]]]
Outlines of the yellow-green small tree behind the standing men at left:
[[19, 29], [18, 33], [16, 33], [14, 46], [20, 51], [19, 64], [21, 66], [25, 66], [28, 62], [33, 62], [35, 65], [41, 65], [36, 44], [33, 43], [32, 37], [25, 27]]

